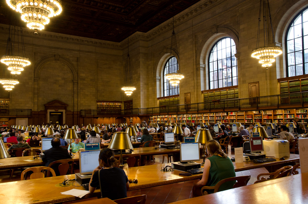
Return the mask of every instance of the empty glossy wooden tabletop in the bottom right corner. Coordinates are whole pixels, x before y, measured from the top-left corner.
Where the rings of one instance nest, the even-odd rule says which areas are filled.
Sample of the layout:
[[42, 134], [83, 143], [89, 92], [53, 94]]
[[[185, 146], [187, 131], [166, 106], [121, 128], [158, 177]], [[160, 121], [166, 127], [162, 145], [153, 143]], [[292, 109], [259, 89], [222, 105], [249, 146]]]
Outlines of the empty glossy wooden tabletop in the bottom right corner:
[[[277, 178], [171, 204], [289, 204], [308, 203], [308, 173]], [[229, 199], [228, 199], [229, 198]]]

